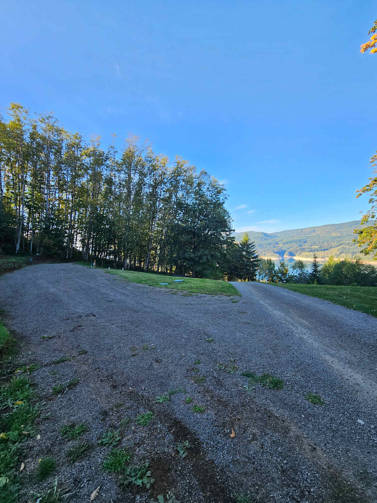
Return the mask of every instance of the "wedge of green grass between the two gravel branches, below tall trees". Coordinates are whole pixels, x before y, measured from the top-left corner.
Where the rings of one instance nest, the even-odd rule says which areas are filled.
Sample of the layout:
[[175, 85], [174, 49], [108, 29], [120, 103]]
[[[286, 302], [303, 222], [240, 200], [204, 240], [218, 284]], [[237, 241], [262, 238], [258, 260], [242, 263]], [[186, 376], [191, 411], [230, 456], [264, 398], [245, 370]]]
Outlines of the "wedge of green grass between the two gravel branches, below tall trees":
[[[81, 265], [87, 266], [86, 262], [80, 262]], [[99, 268], [97, 268], [99, 269]], [[178, 278], [176, 276], [163, 276], [155, 273], [140, 273], [138, 271], [121, 271], [119, 269], [103, 269], [109, 274], [116, 274], [132, 283], [140, 283], [142, 285], [156, 286], [160, 288], [173, 288], [174, 290], [182, 290], [191, 293], [206, 293], [209, 295], [233, 295], [239, 296], [237, 288], [227, 281], [206, 280], [202, 278]], [[183, 280], [181, 283], [174, 283], [174, 280]], [[159, 283], [168, 283], [160, 285]]]

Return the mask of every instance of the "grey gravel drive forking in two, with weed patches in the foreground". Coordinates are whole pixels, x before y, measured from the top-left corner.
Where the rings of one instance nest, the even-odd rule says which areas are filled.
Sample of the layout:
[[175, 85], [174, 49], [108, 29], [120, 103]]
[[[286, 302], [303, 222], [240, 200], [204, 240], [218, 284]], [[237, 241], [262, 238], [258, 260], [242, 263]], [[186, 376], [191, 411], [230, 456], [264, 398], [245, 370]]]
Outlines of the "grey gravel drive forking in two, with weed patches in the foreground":
[[[51, 413], [38, 421], [41, 440], [26, 443], [28, 488], [41, 492], [33, 470], [52, 455], [73, 502], [99, 485], [99, 503], [154, 501], [167, 489], [181, 503], [231, 503], [241, 492], [259, 503], [377, 501], [377, 319], [270, 285], [234, 285], [242, 297], [233, 300], [184, 294], [71, 264], [1, 277], [0, 307], [21, 360], [41, 365], [33, 379]], [[62, 357], [74, 359], [52, 363]], [[238, 369], [227, 373], [219, 362]], [[244, 371], [285, 385], [248, 391]], [[74, 377], [76, 387], [51, 394]], [[182, 387], [187, 393], [155, 402]], [[308, 392], [325, 405], [305, 400]], [[137, 425], [148, 410], [154, 419]], [[109, 448], [97, 440], [127, 417], [122, 446], [134, 463], [150, 462], [150, 491], [122, 489], [102, 469]], [[71, 465], [65, 454], [74, 442], [58, 431], [82, 421], [93, 447]], [[193, 447], [182, 459], [175, 446], [186, 439]]]

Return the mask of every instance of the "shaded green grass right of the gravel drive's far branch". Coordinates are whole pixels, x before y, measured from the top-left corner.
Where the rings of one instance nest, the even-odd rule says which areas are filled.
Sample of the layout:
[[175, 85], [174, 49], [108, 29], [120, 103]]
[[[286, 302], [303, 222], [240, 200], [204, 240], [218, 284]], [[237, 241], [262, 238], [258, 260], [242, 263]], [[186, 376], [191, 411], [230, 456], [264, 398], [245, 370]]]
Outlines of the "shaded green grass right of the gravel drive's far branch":
[[270, 283], [273, 286], [288, 288], [294, 292], [311, 297], [329, 300], [334, 304], [371, 314], [377, 317], [377, 287], [373, 286], [335, 286], [335, 285], [298, 285], [296, 283]]

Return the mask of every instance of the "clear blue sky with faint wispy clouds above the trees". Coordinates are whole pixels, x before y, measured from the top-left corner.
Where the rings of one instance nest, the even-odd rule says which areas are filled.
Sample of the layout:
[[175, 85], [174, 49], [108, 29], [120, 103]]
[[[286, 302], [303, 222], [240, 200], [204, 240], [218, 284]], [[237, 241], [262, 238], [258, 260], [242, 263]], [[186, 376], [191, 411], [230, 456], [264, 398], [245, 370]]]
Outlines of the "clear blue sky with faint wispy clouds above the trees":
[[377, 149], [374, 2], [2, 1], [0, 104], [224, 181], [237, 230], [355, 220]]

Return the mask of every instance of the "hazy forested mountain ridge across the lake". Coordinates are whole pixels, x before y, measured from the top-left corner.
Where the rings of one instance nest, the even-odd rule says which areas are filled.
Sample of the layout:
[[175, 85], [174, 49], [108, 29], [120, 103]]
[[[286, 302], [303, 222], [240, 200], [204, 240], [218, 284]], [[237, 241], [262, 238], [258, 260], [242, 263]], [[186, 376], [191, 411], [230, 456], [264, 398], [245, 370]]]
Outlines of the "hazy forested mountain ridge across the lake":
[[[352, 220], [303, 229], [281, 230], [271, 234], [249, 230], [247, 234], [251, 241], [254, 241], [258, 254], [262, 257], [311, 258], [316, 253], [318, 257], [333, 255], [344, 258], [354, 257], [360, 253], [360, 248], [352, 241], [357, 237], [353, 230], [360, 227], [360, 220]], [[236, 241], [239, 241], [244, 232], [235, 232], [233, 235]]]

